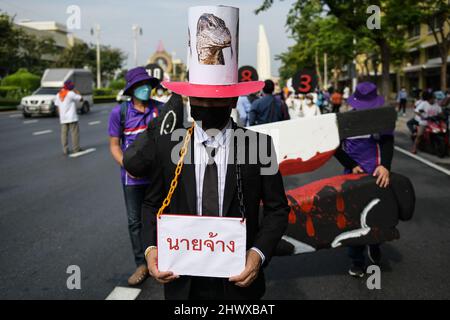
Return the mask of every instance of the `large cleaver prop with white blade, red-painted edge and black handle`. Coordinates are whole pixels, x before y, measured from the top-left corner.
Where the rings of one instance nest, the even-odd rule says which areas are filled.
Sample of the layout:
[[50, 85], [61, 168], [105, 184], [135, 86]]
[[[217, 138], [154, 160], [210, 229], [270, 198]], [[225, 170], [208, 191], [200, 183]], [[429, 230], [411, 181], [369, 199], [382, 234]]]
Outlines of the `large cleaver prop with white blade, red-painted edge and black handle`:
[[393, 132], [395, 121], [395, 109], [383, 107], [268, 123], [250, 130], [272, 136], [280, 172], [288, 176], [320, 168], [345, 138]]

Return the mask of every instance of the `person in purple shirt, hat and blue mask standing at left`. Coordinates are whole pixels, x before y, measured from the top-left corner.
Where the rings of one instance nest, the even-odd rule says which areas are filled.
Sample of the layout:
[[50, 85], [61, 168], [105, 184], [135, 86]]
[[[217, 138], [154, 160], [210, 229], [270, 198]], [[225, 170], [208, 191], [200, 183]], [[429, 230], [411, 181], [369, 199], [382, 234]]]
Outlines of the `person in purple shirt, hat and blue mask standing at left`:
[[158, 116], [162, 103], [150, 99], [151, 91], [159, 80], [152, 78], [147, 71], [138, 67], [128, 71], [124, 94], [131, 101], [116, 106], [109, 119], [110, 151], [121, 168], [121, 181], [128, 216], [128, 231], [131, 238], [136, 271], [128, 279], [129, 285], [138, 285], [148, 277], [147, 263], [142, 244], [141, 207], [145, 191], [150, 183], [146, 177], [133, 177], [123, 168], [123, 153], [139, 134], [147, 129], [148, 123]]

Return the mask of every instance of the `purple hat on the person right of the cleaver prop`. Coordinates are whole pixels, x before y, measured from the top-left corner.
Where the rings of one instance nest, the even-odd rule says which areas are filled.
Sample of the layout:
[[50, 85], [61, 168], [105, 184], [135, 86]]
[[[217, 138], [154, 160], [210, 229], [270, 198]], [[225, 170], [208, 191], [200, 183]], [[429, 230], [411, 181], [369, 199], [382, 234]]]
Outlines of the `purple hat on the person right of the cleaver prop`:
[[377, 108], [384, 105], [384, 97], [377, 94], [377, 86], [372, 82], [361, 82], [347, 103], [356, 110]]

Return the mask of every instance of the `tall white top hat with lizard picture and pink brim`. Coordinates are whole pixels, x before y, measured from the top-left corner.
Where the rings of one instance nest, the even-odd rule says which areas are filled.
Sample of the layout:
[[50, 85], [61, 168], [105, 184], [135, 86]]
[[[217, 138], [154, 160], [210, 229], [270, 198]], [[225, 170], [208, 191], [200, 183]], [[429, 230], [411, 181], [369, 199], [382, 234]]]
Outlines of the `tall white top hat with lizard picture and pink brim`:
[[237, 97], [261, 90], [262, 81], [238, 83], [239, 9], [189, 8], [189, 82], [163, 82], [175, 93], [205, 98]]

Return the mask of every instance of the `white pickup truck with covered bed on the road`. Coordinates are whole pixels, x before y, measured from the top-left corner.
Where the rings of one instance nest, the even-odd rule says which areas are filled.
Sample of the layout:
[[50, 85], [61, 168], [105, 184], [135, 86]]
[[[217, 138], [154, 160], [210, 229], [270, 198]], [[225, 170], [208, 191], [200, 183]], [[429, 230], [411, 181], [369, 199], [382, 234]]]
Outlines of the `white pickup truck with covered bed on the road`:
[[75, 89], [83, 96], [83, 101], [77, 104], [78, 112], [88, 113], [94, 104], [92, 72], [84, 69], [47, 69], [42, 76], [41, 87], [31, 96], [22, 98], [19, 108], [23, 116], [57, 115], [53, 101], [67, 80], [72, 81]]

